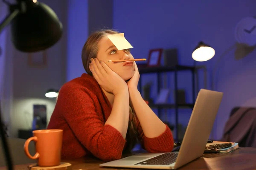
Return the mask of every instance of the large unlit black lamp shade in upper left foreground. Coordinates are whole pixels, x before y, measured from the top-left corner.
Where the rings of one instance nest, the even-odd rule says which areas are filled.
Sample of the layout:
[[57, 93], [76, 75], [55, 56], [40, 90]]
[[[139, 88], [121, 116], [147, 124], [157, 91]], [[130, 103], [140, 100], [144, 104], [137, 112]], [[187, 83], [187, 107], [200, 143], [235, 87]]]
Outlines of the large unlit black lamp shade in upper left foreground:
[[[23, 52], [42, 51], [60, 40], [62, 24], [49, 6], [36, 0], [17, 1], [24, 3], [26, 10], [17, 14], [11, 23], [15, 48]], [[15, 8], [10, 10], [12, 12]]]

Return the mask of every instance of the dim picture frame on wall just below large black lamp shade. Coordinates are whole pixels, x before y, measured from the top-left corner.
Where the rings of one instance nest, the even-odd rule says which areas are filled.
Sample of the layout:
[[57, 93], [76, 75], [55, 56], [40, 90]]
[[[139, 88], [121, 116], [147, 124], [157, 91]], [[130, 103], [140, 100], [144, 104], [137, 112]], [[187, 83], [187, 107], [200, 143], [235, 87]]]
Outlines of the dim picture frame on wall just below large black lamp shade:
[[47, 66], [47, 52], [39, 51], [28, 54], [28, 65], [31, 68], [44, 68]]

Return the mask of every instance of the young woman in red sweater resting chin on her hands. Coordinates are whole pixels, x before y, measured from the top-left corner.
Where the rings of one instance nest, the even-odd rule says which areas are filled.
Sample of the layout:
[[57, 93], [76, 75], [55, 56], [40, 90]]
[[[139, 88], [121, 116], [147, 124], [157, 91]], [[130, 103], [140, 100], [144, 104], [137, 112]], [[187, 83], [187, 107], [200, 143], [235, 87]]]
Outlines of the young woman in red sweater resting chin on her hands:
[[120, 159], [137, 143], [151, 153], [171, 152], [172, 132], [149, 108], [137, 89], [140, 74], [130, 49], [118, 50], [104, 30], [90, 35], [82, 49], [87, 74], [59, 91], [48, 129], [63, 130], [62, 158], [93, 155]]

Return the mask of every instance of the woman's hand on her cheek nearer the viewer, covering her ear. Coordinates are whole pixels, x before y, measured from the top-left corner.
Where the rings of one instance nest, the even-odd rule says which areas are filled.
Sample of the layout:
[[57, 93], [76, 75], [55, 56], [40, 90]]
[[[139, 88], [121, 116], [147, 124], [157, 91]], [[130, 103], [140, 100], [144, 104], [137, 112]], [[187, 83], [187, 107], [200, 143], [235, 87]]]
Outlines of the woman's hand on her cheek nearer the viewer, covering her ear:
[[108, 65], [98, 59], [91, 59], [90, 71], [99, 85], [114, 95], [124, 90], [128, 90], [127, 83], [116, 72], [112, 71]]

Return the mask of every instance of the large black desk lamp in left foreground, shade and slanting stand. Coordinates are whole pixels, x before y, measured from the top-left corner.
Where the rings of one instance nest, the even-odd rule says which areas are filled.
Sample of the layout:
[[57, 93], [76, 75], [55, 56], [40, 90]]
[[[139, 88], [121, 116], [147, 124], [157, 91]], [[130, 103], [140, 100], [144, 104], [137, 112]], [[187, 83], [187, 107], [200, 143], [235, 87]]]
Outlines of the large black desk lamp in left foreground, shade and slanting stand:
[[[16, 0], [9, 6], [10, 14], [0, 23], [0, 33], [11, 23], [12, 42], [19, 51], [36, 52], [45, 50], [60, 40], [62, 24], [52, 9], [37, 0]], [[12, 158], [4, 133], [0, 108], [0, 135], [6, 162], [9, 170], [13, 170]]]

